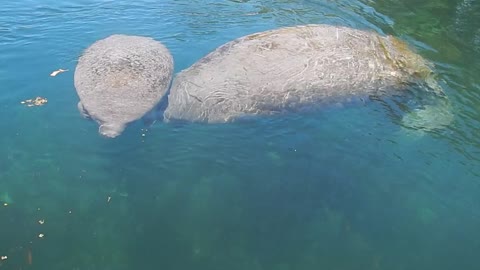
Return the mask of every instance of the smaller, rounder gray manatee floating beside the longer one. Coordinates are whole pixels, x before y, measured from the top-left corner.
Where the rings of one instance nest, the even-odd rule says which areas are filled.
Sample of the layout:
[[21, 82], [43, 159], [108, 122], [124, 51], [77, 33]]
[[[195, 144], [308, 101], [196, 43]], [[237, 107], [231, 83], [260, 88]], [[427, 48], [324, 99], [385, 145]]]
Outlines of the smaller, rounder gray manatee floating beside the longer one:
[[99, 40], [78, 60], [78, 108], [100, 125], [100, 134], [116, 137], [165, 95], [173, 65], [168, 49], [151, 38], [112, 35]]

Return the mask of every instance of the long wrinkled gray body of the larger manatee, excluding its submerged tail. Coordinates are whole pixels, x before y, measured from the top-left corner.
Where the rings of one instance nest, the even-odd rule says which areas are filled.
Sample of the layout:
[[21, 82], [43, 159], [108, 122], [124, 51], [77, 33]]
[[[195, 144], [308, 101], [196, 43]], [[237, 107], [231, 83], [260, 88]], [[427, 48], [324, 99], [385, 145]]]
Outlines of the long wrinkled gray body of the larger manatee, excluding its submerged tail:
[[[174, 79], [166, 121], [222, 123], [432, 84], [425, 60], [391, 36], [286, 27], [217, 48]], [[435, 90], [434, 90], [435, 91]]]

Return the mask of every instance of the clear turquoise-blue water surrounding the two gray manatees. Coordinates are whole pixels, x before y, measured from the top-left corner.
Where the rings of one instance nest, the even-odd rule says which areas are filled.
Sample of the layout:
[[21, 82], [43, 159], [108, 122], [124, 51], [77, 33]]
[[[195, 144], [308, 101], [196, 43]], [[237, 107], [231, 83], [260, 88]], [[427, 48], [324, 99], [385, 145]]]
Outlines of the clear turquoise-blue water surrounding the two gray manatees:
[[[178, 72], [234, 38], [305, 23], [406, 40], [435, 64], [453, 122], [407, 130], [377, 102], [138, 121], [108, 140], [77, 111], [76, 60], [110, 34], [162, 41]], [[3, 1], [0, 269], [478, 269], [479, 60], [473, 0]], [[36, 96], [48, 103], [20, 104]]]

